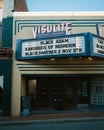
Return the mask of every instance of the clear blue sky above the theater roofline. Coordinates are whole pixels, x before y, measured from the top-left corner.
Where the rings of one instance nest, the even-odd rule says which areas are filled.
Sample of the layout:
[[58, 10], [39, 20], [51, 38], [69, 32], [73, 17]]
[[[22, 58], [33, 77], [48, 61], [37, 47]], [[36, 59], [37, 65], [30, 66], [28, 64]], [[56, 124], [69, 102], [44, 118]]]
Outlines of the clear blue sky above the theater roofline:
[[104, 11], [104, 0], [27, 0], [29, 11]]

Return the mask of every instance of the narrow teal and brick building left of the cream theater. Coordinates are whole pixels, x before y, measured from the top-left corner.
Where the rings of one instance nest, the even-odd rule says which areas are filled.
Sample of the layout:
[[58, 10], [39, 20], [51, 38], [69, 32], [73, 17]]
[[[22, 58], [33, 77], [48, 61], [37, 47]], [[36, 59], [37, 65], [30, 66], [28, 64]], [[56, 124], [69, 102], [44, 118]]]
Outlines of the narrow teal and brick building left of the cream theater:
[[[0, 114], [11, 113], [13, 12], [27, 11], [25, 0], [0, 0]], [[2, 110], [1, 110], [2, 109]]]

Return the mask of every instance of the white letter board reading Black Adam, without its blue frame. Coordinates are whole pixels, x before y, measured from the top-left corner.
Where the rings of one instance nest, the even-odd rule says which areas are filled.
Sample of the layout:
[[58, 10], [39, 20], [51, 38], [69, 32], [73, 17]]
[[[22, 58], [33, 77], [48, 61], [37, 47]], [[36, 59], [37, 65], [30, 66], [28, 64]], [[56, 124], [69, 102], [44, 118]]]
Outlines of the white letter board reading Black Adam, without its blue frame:
[[85, 53], [84, 36], [22, 41], [22, 57]]

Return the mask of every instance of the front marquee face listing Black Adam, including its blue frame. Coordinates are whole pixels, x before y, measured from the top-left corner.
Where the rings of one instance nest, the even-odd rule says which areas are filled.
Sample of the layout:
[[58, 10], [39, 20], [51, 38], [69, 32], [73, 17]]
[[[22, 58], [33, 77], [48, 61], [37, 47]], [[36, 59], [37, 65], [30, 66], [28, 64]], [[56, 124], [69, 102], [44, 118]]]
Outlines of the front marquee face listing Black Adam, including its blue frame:
[[82, 56], [85, 48], [84, 34], [17, 40], [16, 59]]

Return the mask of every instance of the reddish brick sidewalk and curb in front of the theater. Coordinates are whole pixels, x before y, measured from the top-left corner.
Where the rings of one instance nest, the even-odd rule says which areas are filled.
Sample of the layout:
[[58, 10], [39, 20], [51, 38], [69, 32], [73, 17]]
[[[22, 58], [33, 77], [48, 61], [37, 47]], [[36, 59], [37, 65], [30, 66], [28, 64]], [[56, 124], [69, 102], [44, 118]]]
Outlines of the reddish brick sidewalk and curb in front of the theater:
[[57, 111], [55, 113], [49, 114], [34, 113], [29, 116], [0, 116], [0, 126], [42, 123], [64, 123], [94, 120], [104, 120], [104, 111]]

